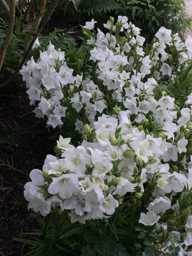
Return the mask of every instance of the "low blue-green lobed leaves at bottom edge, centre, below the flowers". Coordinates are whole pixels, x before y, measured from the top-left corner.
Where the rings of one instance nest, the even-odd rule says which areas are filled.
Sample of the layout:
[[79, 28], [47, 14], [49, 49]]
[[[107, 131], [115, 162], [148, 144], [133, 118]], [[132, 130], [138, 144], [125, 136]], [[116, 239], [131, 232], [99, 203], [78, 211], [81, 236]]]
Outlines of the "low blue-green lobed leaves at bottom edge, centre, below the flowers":
[[94, 247], [90, 245], [82, 248], [82, 256], [130, 256], [121, 243], [116, 243], [114, 240], [100, 241]]

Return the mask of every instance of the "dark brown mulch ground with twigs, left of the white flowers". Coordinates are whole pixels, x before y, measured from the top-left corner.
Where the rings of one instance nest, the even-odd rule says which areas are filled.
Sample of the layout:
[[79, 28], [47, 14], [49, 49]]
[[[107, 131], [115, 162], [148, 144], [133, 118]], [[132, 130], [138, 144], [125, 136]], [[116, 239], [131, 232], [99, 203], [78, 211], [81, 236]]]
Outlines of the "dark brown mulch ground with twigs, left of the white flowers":
[[0, 255], [16, 256], [30, 248], [13, 237], [27, 239], [22, 233], [38, 228], [27, 210], [24, 184], [30, 181], [33, 168], [42, 168], [53, 148], [46, 121], [31, 112], [34, 106], [30, 106], [24, 86], [18, 88], [14, 93], [11, 89], [6, 95], [0, 93], [0, 129], [13, 135], [9, 143], [0, 144]]

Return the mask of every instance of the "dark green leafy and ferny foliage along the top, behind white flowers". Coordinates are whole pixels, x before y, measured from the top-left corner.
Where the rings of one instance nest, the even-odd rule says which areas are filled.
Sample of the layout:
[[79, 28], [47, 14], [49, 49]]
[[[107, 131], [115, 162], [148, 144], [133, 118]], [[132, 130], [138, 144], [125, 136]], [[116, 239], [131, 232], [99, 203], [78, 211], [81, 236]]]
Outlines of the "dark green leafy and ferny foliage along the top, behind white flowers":
[[141, 34], [147, 40], [151, 40], [161, 26], [179, 34], [191, 28], [191, 18], [185, 13], [184, 0], [60, 0], [56, 13], [54, 19], [57, 16], [58, 20], [81, 24], [94, 18], [99, 27], [108, 20], [109, 15], [116, 18], [126, 15], [129, 22], [142, 29]]

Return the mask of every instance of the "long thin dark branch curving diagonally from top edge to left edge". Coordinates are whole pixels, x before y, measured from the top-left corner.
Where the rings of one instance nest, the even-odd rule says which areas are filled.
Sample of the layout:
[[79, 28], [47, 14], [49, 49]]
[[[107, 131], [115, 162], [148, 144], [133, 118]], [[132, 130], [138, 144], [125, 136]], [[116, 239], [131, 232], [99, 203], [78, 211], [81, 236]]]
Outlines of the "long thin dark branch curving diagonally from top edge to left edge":
[[13, 73], [13, 75], [7, 80], [5, 81], [3, 84], [0, 84], [0, 88], [3, 88], [5, 87], [7, 84], [10, 84], [11, 81], [13, 81], [13, 79], [15, 78], [15, 76], [17, 75], [17, 73], [19, 72], [19, 70], [22, 68], [23, 64], [25, 63], [25, 60], [27, 59], [30, 51], [31, 51], [31, 48], [32, 46], [34, 45], [35, 43], [35, 40], [37, 39], [37, 37], [40, 35], [41, 31], [43, 30], [43, 28], [45, 27], [45, 25], [47, 24], [48, 20], [50, 19], [53, 11], [55, 10], [55, 7], [57, 5], [59, 0], [55, 0], [54, 3], [53, 3], [53, 6], [51, 8], [51, 10], [49, 11], [47, 17], [45, 18], [44, 22], [41, 24], [40, 28], [38, 29], [37, 33], [35, 34], [33, 40], [31, 41], [31, 44], [29, 45], [29, 48], [27, 49], [26, 51], [26, 54], [25, 56], [23, 57], [22, 59], [22, 62], [20, 63], [20, 65], [18, 66], [18, 68], [15, 70], [15, 72]]

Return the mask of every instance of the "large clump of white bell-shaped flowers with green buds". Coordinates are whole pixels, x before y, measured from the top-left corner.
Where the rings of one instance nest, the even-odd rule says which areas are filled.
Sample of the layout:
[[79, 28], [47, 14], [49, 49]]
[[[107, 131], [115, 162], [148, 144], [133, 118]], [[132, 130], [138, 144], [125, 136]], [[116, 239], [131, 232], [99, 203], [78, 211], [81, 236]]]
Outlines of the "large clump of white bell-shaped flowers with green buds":
[[[192, 93], [181, 104], [177, 87], [191, 74], [192, 38], [183, 42], [161, 27], [144, 47], [140, 29], [125, 16], [116, 24], [110, 18], [106, 34], [89, 31], [95, 23], [83, 27], [89, 64], [75, 76], [65, 52], [51, 43], [21, 70], [31, 104], [38, 102], [36, 116], [46, 115], [55, 128], [68, 113], [83, 135], [77, 147], [60, 136], [57, 157], [48, 155], [42, 171], [31, 171], [28, 208], [45, 216], [60, 207], [72, 223], [85, 223], [109, 218], [128, 195], [145, 207], [138, 223], [169, 233], [162, 251], [179, 246], [179, 255], [191, 255]], [[174, 222], [181, 217], [182, 238]]]

